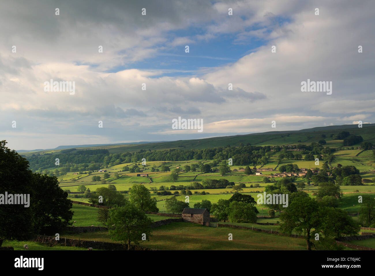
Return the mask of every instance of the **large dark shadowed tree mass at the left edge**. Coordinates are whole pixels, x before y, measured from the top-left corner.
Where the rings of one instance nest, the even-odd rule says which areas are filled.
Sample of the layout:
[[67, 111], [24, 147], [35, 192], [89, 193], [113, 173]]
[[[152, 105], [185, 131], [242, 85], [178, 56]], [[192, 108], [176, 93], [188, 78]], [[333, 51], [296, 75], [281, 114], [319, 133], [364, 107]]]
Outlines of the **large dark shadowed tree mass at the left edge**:
[[7, 192], [29, 200], [1, 205], [0, 246], [4, 240], [27, 240], [43, 228], [68, 225], [72, 204], [68, 193], [58, 187], [57, 178], [32, 173], [28, 161], [5, 145], [5, 141], [0, 142], [0, 197]]

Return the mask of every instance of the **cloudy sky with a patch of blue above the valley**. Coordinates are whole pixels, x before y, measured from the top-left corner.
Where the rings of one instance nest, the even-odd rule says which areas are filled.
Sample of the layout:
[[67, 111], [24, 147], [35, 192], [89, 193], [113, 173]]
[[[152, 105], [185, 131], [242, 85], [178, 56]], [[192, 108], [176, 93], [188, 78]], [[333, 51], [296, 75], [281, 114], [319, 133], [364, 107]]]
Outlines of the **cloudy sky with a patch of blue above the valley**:
[[[3, 1], [0, 140], [31, 150], [374, 123], [374, 10], [372, 0]], [[46, 91], [51, 79], [74, 81], [74, 94]], [[332, 94], [302, 92], [308, 79], [332, 81]], [[178, 117], [202, 120], [202, 132], [172, 128]]]

